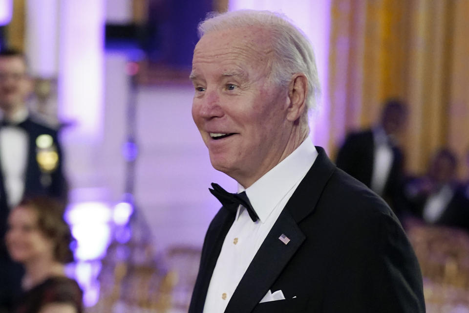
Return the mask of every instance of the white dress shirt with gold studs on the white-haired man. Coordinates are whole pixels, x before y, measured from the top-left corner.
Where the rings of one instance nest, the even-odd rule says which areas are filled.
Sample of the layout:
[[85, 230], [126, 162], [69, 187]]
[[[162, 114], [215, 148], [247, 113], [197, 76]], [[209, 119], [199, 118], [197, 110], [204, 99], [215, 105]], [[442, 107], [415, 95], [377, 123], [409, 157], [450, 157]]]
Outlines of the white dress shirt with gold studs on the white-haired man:
[[[285, 204], [313, 165], [318, 152], [311, 138], [246, 189], [259, 217], [253, 222], [239, 206], [218, 256], [205, 300], [204, 313], [224, 312], [236, 287]], [[239, 185], [238, 192], [244, 190]]]

